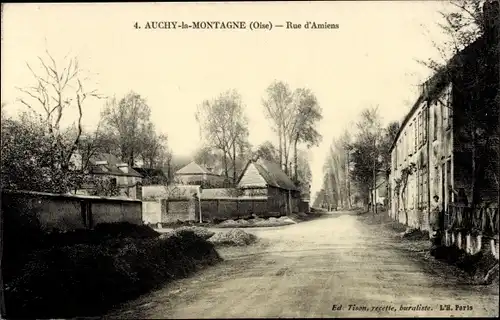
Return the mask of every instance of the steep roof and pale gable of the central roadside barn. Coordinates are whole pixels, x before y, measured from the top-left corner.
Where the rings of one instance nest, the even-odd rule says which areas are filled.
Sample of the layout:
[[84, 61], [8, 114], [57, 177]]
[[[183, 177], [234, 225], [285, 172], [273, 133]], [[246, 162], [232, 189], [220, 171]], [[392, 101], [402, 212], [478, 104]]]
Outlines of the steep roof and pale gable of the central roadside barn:
[[277, 163], [260, 158], [256, 161], [250, 160], [243, 170], [238, 186], [259, 187], [261, 183], [284, 190], [298, 191], [297, 186]]

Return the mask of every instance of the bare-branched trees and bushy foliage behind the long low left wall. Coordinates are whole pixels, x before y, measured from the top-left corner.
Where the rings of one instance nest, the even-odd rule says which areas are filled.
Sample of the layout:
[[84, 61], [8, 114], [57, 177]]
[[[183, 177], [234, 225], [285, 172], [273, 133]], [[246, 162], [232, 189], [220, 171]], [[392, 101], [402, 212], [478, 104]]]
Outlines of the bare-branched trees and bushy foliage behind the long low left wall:
[[[28, 65], [33, 85], [18, 88], [18, 101], [27, 109], [9, 115], [9, 105], [2, 103], [2, 188], [65, 193], [86, 183], [105, 185], [87, 174], [91, 158], [100, 153], [114, 154], [130, 166], [137, 160], [150, 166], [169, 162], [167, 137], [156, 133], [139, 94], [104, 97], [86, 88], [88, 77], [76, 58], [56, 62], [46, 54], [38, 58], [40, 71]], [[91, 99], [105, 101], [105, 107], [97, 128], [85, 130], [85, 106]], [[71, 125], [61, 125], [75, 113]]]

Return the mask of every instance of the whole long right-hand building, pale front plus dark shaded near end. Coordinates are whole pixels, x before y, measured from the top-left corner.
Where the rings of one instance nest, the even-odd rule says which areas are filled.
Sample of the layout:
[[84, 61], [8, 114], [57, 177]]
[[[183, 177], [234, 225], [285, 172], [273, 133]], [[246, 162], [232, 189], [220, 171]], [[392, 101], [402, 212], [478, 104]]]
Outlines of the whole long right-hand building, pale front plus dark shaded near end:
[[435, 196], [444, 228], [457, 205], [498, 208], [498, 8], [487, 9], [496, 26], [421, 87], [392, 145], [390, 215], [411, 227], [429, 228]]

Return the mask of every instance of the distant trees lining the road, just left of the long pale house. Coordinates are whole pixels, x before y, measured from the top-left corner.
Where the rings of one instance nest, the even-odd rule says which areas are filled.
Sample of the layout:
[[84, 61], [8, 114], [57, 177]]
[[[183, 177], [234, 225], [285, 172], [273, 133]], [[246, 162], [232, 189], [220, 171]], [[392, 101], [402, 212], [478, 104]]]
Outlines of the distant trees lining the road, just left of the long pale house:
[[345, 130], [330, 146], [323, 166], [323, 188], [316, 196], [322, 202], [344, 208], [351, 208], [353, 202], [373, 203], [370, 189], [377, 177], [388, 178], [390, 147], [399, 124], [384, 127], [378, 108], [372, 107], [361, 112], [356, 129]]

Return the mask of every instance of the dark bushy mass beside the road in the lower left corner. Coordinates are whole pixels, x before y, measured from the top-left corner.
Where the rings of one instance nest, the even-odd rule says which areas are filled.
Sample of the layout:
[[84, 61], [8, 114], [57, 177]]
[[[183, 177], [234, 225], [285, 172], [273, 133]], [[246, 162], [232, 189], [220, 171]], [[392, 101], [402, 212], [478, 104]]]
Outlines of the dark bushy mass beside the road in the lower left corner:
[[100, 315], [220, 260], [213, 244], [183, 230], [167, 239], [126, 237], [37, 250], [4, 280], [7, 316]]

